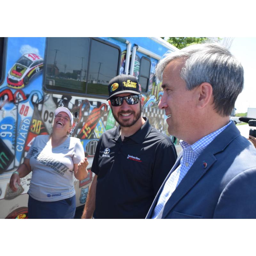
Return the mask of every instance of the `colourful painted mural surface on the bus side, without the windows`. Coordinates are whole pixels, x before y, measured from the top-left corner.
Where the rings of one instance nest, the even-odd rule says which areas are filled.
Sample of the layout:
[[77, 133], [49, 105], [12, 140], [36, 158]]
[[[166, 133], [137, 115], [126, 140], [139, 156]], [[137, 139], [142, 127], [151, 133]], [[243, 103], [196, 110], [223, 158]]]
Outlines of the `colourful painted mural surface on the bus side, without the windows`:
[[[116, 44], [122, 52], [121, 74], [124, 72], [126, 44]], [[82, 181], [74, 179], [76, 206], [85, 204], [88, 195], [94, 176], [90, 169], [97, 142], [103, 132], [116, 126], [106, 100], [43, 92], [44, 49], [45, 38], [8, 39], [6, 74], [0, 87], [0, 218], [27, 218], [31, 173], [21, 179], [21, 188], [16, 193], [10, 190], [9, 180], [12, 172], [24, 161], [35, 137], [51, 133], [55, 108], [65, 106], [71, 112], [78, 113], [71, 136], [81, 140], [89, 160], [88, 176]], [[137, 52], [134, 67], [137, 78], [142, 56]], [[162, 95], [160, 81], [154, 78], [157, 60], [151, 58], [150, 61], [149, 90], [143, 94], [143, 116], [147, 116], [156, 129], [165, 133], [164, 111], [157, 108]]]

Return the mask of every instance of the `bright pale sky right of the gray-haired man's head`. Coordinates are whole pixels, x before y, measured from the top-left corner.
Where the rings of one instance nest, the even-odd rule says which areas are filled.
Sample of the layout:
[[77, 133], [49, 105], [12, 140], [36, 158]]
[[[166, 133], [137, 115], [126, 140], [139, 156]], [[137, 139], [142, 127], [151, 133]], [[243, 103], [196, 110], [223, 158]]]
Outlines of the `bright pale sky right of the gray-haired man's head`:
[[247, 108], [256, 108], [256, 37], [234, 37], [230, 52], [241, 61], [244, 68], [244, 90], [239, 94], [236, 113], [247, 112]]

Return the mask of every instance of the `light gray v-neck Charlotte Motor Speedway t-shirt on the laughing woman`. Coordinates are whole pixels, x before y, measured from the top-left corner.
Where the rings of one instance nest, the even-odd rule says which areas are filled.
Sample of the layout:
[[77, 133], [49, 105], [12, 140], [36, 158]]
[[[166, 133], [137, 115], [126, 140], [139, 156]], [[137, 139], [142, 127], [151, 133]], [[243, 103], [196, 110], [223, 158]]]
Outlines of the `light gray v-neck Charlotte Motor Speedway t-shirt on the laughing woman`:
[[84, 158], [84, 148], [78, 138], [67, 137], [52, 148], [49, 135], [39, 135], [33, 141], [26, 158], [32, 170], [28, 194], [38, 201], [58, 201], [76, 194], [74, 164]]

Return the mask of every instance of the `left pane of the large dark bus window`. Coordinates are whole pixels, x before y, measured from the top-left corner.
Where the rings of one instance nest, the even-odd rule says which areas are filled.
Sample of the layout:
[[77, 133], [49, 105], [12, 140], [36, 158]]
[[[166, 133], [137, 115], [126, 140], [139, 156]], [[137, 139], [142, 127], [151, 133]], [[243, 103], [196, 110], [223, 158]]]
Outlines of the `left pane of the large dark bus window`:
[[47, 89], [85, 93], [90, 41], [88, 37], [48, 38]]

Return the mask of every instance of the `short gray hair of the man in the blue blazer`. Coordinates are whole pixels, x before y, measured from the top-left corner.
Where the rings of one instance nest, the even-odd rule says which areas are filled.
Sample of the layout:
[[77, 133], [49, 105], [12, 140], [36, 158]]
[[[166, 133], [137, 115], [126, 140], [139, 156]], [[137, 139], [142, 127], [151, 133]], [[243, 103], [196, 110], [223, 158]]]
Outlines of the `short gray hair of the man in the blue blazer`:
[[244, 69], [224, 46], [193, 44], [178, 52], [167, 53], [156, 67], [156, 76], [162, 79], [164, 68], [175, 59], [184, 59], [180, 77], [192, 90], [203, 82], [210, 83], [214, 108], [221, 116], [229, 116], [236, 98], [244, 87]]

